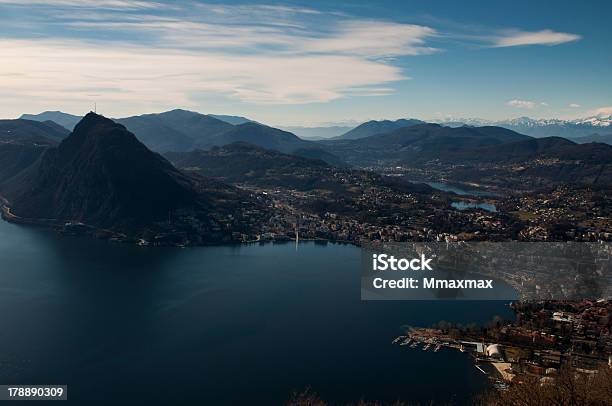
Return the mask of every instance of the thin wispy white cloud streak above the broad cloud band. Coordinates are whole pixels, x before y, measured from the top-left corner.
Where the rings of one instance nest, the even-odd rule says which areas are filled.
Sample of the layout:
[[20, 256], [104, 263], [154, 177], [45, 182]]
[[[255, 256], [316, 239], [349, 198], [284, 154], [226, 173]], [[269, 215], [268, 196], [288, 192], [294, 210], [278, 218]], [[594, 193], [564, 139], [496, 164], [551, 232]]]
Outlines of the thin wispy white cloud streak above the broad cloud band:
[[[1, 0], [0, 0], [1, 1]], [[236, 16], [234, 16], [236, 18]], [[430, 54], [436, 51], [425, 45], [435, 35], [429, 27], [382, 21], [340, 21], [322, 33], [316, 30], [292, 29], [284, 22], [268, 24], [222, 24], [188, 21], [179, 18], [143, 16], [127, 18], [78, 19], [65, 26], [97, 31], [122, 30], [144, 32], [164, 46], [180, 48], [228, 48], [259, 51], [274, 49], [286, 54], [334, 54], [364, 58]]]

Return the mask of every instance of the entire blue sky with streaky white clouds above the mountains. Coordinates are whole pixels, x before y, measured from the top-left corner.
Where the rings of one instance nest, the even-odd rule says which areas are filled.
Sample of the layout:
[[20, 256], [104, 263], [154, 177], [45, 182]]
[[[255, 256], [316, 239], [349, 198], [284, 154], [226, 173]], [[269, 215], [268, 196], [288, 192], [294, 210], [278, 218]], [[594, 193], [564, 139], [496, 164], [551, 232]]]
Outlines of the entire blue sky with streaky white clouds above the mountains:
[[612, 114], [610, 1], [0, 0], [0, 117]]

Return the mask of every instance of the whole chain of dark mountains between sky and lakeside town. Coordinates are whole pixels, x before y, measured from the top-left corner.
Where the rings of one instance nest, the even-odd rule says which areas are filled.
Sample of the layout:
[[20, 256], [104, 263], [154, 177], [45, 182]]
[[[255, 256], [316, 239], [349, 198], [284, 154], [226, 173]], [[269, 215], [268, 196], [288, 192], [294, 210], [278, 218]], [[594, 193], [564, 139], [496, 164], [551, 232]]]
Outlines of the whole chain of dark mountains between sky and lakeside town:
[[[269, 220], [265, 194], [244, 185], [297, 190], [309, 196], [308, 210], [362, 218], [376, 217], [373, 203], [363, 201], [368, 193], [416, 193], [423, 207], [443, 204], [435, 202], [440, 196], [432, 200], [429, 187], [407, 180], [514, 192], [612, 186], [612, 146], [498, 126], [389, 122], [382, 127], [400, 127], [379, 133], [380, 123], [366, 123], [360, 131], [374, 135], [315, 143], [256, 122], [233, 125], [184, 110], [129, 119], [140, 139], [95, 113], [72, 132], [53, 121], [0, 120], [3, 216], [60, 227], [83, 223], [130, 239], [171, 235], [173, 243], [206, 243], [235, 241]], [[142, 142], [168, 142], [163, 134], [185, 142], [184, 150], [164, 157]], [[334, 166], [330, 158], [354, 168]]]

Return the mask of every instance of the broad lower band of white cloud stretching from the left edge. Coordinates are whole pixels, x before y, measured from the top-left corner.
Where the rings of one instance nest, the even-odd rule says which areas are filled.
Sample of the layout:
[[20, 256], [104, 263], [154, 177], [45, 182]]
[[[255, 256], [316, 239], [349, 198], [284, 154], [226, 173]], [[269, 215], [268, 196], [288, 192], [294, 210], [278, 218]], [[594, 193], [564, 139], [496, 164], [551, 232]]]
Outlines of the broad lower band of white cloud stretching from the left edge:
[[3, 108], [9, 99], [88, 103], [92, 93], [117, 108], [189, 106], [210, 93], [259, 104], [328, 102], [389, 94], [373, 85], [405, 79], [397, 67], [348, 55], [228, 55], [81, 41], [0, 40], [0, 59], [11, 61], [0, 65], [0, 88], [11, 95]]

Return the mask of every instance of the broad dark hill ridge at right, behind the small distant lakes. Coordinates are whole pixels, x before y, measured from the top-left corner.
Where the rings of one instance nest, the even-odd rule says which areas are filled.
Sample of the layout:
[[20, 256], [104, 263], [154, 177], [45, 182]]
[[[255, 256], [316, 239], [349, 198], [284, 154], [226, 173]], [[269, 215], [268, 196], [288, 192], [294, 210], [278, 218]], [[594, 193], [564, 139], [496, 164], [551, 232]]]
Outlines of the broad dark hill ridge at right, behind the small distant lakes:
[[560, 183], [612, 185], [612, 146], [534, 138], [496, 126], [418, 124], [357, 140], [321, 143], [351, 165], [413, 168], [426, 176], [506, 190]]

